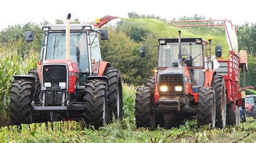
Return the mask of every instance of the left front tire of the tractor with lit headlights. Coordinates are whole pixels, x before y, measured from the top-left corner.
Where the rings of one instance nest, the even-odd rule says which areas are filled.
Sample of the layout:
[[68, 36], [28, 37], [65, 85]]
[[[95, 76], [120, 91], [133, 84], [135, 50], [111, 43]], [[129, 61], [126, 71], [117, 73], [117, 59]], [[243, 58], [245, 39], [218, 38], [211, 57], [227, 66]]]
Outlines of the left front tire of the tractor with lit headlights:
[[140, 87], [135, 98], [135, 120], [138, 127], [155, 127], [155, 116], [151, 114], [151, 88]]

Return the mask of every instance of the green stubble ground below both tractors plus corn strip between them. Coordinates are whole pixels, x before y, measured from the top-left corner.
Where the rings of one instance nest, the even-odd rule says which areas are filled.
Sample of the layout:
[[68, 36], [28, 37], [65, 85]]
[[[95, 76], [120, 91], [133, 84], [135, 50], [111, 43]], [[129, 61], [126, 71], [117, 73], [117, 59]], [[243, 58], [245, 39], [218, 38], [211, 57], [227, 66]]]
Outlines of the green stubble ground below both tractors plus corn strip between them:
[[211, 130], [197, 127], [196, 120], [179, 128], [136, 128], [134, 97], [136, 87], [124, 83], [124, 119], [95, 130], [83, 121], [59, 121], [0, 128], [0, 142], [187, 142], [187, 141], [255, 141], [256, 121], [252, 117], [241, 126]]

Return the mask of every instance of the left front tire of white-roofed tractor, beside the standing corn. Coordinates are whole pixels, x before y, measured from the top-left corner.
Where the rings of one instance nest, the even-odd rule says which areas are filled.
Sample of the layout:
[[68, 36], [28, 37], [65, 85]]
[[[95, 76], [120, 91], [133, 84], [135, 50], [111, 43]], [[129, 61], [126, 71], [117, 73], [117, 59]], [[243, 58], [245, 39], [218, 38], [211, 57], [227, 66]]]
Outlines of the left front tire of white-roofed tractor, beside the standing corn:
[[29, 80], [15, 80], [11, 84], [10, 124], [30, 124], [33, 120], [32, 98], [34, 83]]

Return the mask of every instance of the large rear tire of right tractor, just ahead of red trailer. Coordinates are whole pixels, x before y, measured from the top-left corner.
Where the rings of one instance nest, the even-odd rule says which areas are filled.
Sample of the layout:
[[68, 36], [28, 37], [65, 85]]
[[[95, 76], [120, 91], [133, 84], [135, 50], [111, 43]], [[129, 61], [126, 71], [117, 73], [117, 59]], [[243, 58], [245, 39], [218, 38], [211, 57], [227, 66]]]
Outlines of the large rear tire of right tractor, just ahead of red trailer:
[[215, 91], [216, 123], [215, 127], [225, 128], [226, 126], [226, 88], [225, 80], [221, 75], [213, 75], [212, 87]]

